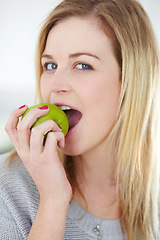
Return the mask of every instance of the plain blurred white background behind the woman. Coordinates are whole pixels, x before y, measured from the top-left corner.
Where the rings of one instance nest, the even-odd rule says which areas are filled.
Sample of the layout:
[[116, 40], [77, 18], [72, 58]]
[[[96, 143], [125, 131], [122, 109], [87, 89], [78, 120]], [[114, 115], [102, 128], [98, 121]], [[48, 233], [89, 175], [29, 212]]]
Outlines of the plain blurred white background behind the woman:
[[[0, 0], [0, 153], [12, 144], [4, 126], [10, 112], [34, 104], [34, 57], [43, 20], [60, 0]], [[160, 46], [160, 0], [140, 0]]]

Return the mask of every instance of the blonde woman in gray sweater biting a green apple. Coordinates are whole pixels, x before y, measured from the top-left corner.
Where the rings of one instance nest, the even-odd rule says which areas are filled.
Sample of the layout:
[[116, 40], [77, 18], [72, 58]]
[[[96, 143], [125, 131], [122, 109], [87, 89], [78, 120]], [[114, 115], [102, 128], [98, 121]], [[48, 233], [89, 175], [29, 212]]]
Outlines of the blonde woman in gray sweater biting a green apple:
[[51, 12], [37, 89], [70, 109], [71, 129], [64, 137], [49, 120], [30, 130], [47, 106], [20, 123], [27, 106], [11, 114], [18, 155], [1, 168], [2, 239], [159, 239], [157, 52], [135, 0], [66, 0]]

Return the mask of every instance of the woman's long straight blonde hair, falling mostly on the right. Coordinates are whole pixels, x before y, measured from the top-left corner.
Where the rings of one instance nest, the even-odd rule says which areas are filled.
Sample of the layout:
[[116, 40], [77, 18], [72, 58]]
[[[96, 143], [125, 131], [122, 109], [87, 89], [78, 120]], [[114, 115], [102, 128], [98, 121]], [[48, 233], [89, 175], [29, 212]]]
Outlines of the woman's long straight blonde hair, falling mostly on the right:
[[[158, 234], [159, 196], [159, 57], [151, 23], [135, 0], [64, 0], [48, 16], [36, 55], [38, 94], [41, 55], [51, 28], [70, 16], [96, 17], [112, 39], [121, 69], [117, 122], [110, 134], [116, 151], [115, 178], [128, 240]], [[74, 162], [64, 165], [73, 189], [79, 189]]]

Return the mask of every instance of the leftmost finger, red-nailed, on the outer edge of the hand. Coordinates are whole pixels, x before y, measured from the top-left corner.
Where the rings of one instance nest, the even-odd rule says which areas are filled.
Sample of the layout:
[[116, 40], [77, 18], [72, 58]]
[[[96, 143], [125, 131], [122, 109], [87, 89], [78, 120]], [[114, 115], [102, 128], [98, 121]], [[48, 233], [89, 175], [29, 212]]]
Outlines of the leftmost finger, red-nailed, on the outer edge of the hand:
[[15, 147], [18, 147], [18, 134], [17, 134], [17, 125], [19, 122], [19, 117], [22, 116], [22, 114], [26, 111], [27, 105], [23, 105], [22, 107], [15, 109], [12, 111], [8, 122], [5, 126], [5, 130], [10, 137], [11, 141], [15, 145]]

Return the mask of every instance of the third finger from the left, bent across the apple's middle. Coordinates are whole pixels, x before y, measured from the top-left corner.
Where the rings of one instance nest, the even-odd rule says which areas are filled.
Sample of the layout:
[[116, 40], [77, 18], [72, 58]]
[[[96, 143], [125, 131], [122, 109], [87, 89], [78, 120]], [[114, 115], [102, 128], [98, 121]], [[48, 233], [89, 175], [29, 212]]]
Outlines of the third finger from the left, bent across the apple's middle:
[[30, 150], [36, 151], [38, 154], [44, 149], [44, 138], [49, 132], [60, 132], [61, 128], [52, 120], [47, 120], [38, 126], [32, 128], [30, 137]]

